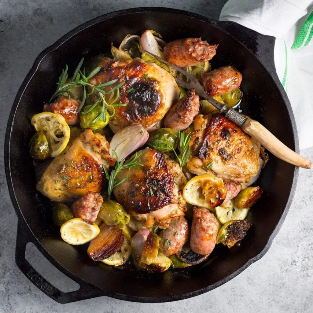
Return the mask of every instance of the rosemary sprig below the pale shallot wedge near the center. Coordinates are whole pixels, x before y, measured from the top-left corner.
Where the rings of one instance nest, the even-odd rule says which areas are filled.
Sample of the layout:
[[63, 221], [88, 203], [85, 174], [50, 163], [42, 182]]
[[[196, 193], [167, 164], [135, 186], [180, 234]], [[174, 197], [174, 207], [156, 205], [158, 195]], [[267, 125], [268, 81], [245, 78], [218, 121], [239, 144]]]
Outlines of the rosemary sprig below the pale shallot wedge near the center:
[[143, 166], [143, 164], [138, 163], [136, 161], [139, 158], [139, 156], [141, 156], [141, 153], [136, 152], [136, 154], [131, 159], [129, 159], [128, 161], [125, 162], [125, 160], [119, 161], [116, 152], [114, 150], [112, 150], [112, 151], [115, 155], [116, 163], [115, 163], [114, 169], [110, 172], [110, 174], [106, 170], [105, 166], [102, 164], [102, 168], [103, 168], [103, 171], [105, 173], [105, 177], [109, 183], [109, 185], [108, 185], [108, 197], [109, 197], [109, 199], [111, 197], [111, 193], [112, 193], [113, 189], [115, 187], [121, 185], [121, 183], [123, 183], [127, 180], [127, 177], [124, 177], [120, 181], [116, 181], [116, 176], [119, 172], [121, 172], [121, 170], [124, 170], [125, 168]]

